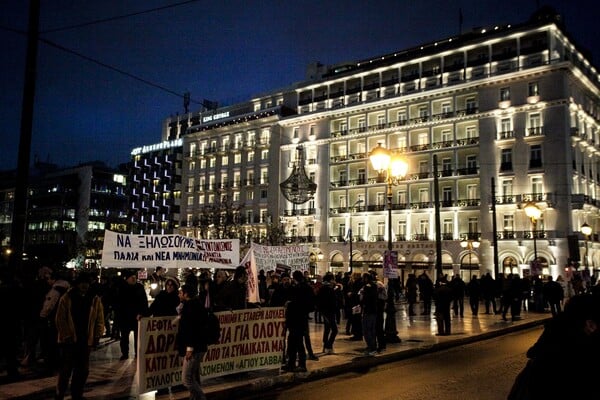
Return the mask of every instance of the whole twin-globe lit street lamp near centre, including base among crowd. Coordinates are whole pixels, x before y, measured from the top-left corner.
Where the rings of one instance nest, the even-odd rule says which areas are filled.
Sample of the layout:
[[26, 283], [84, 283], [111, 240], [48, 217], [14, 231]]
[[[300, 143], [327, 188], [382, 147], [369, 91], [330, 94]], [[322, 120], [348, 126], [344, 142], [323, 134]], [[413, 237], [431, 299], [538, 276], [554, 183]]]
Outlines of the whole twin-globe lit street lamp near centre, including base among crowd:
[[[386, 174], [387, 183], [387, 209], [388, 209], [388, 257], [392, 259], [392, 186], [397, 185], [399, 181], [406, 176], [408, 172], [408, 163], [400, 155], [393, 153], [377, 143], [371, 153], [369, 159], [373, 165], [373, 169], [379, 175]], [[389, 282], [389, 280], [388, 280]], [[385, 307], [385, 340], [388, 343], [399, 343], [401, 340], [398, 337], [396, 329], [396, 305], [394, 304], [394, 296], [391, 295], [390, 286], [388, 285], [388, 299]]]

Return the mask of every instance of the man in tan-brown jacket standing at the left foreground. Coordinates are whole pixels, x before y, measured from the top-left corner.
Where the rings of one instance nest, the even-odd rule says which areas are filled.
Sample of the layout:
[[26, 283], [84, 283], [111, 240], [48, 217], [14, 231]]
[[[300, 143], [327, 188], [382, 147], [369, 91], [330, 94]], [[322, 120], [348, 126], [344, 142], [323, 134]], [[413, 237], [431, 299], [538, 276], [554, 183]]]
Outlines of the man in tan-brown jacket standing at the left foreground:
[[56, 400], [63, 400], [71, 381], [71, 398], [83, 399], [90, 371], [90, 353], [104, 333], [102, 300], [90, 290], [90, 276], [80, 272], [74, 286], [60, 298], [56, 310], [57, 341], [61, 366]]

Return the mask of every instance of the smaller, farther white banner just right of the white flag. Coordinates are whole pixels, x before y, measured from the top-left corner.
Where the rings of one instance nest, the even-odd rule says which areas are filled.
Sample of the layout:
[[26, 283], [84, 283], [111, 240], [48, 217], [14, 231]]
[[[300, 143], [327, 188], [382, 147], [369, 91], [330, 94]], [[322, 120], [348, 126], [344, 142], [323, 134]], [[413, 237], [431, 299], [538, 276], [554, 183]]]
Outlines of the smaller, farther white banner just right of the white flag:
[[251, 251], [257, 271], [275, 271], [277, 264], [287, 265], [292, 271], [308, 271], [308, 245], [263, 246], [252, 243]]

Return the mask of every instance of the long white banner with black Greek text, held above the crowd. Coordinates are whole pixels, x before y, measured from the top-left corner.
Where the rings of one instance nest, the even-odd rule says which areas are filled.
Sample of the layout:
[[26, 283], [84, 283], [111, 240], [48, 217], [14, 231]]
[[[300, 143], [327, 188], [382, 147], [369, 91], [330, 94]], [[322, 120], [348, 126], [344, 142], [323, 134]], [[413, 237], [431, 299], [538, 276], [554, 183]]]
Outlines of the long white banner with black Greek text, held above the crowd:
[[235, 268], [239, 239], [194, 239], [182, 235], [135, 235], [104, 231], [104, 268]]

